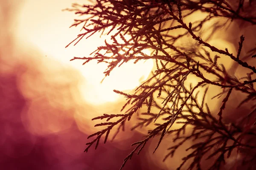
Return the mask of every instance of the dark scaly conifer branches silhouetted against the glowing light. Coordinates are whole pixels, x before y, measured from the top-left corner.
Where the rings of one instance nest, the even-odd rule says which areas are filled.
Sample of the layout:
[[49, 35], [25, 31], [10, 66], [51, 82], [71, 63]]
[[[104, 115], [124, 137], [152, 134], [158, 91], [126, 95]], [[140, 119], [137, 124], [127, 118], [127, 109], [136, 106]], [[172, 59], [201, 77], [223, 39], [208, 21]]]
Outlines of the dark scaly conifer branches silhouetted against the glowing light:
[[[102, 130], [88, 136], [93, 139], [84, 151], [87, 152], [93, 144], [96, 149], [100, 139], [106, 143], [113, 127], [118, 126], [115, 137], [135, 116], [139, 122], [132, 130], [150, 124], [154, 128], [148, 130], [143, 140], [132, 144], [134, 150], [124, 159], [121, 169], [135, 153], [138, 155], [143, 150], [149, 140], [159, 138], [155, 152], [166, 136], [172, 136], [177, 144], [167, 147], [169, 153], [163, 156], [163, 161], [175, 156], [177, 148], [184, 142], [193, 142], [186, 148], [187, 155], [177, 169], [221, 169], [233, 154], [242, 158], [234, 168], [254, 169], [256, 79], [253, 77], [256, 68], [247, 59], [255, 58], [256, 48], [241, 55], [246, 41], [243, 35], [238, 35], [236, 54], [226, 47], [217, 48], [209, 41], [216, 31], [225, 32], [232, 22], [254, 26], [255, 8], [253, 0], [97, 0], [91, 5], [73, 4], [72, 8], [66, 9], [83, 17], [76, 19], [72, 26], [81, 26], [84, 32], [70, 44], [76, 45], [98, 31], [111, 35], [111, 41], [105, 40], [105, 45], [96, 49], [92, 57], [71, 60], [81, 59], [83, 64], [91, 60], [106, 62], [106, 77], [114, 68], [122, 67], [130, 60], [134, 63], [147, 59], [155, 61], [151, 77], [134, 94], [114, 90], [127, 98], [121, 109], [125, 113], [95, 117], [93, 120], [104, 121], [95, 125], [102, 126]], [[197, 12], [204, 17], [189, 21]], [[224, 22], [218, 24], [215, 21], [208, 29], [207, 23], [216, 18]], [[151, 54], [143, 53], [144, 49], [149, 49]], [[226, 68], [226, 63], [221, 60], [224, 58], [230, 59], [233, 70]], [[238, 67], [247, 71], [240, 78], [233, 74]], [[189, 79], [195, 79], [196, 83], [190, 83]], [[211, 102], [208, 93], [212, 87], [221, 91], [212, 96], [214, 100]], [[227, 113], [225, 109], [232, 102], [230, 98], [234, 93], [245, 95], [234, 107], [250, 106], [239, 116]], [[216, 103], [218, 100], [220, 105]], [[212, 111], [212, 107], [218, 107], [218, 110]], [[237, 119], [228, 121], [225, 114], [234, 114]], [[179, 128], [173, 128], [175, 124], [180, 124]], [[203, 166], [209, 159], [212, 161]]]

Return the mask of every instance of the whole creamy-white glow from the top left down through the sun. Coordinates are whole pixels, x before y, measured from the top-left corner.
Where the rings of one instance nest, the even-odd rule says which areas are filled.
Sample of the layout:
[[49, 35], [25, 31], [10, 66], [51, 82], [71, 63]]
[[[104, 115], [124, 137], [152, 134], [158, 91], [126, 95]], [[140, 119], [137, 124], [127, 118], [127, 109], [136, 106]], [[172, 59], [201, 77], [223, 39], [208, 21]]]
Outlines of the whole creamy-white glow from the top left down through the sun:
[[[79, 1], [78, 1], [79, 2]], [[64, 48], [72, 41], [81, 28], [69, 28], [75, 16], [70, 12], [61, 11], [70, 7], [73, 0], [49, 0], [45, 1], [26, 0], [23, 9], [20, 11], [18, 19], [17, 36], [20, 40], [26, 39], [49, 57], [67, 65], [72, 65], [85, 77], [85, 83], [81, 83], [80, 89], [84, 99], [91, 104], [104, 104], [114, 102], [119, 99], [119, 94], [115, 94], [113, 89], [127, 91], [136, 88], [141, 82], [148, 78], [153, 61], [147, 60], [137, 62], [127, 62], [119, 68], [115, 68], [111, 75], [100, 83], [104, 78], [103, 72], [107, 65], [92, 61], [82, 65], [82, 60], [72, 61], [74, 56], [83, 57], [104, 44], [104, 40], [109, 37], [99, 38], [95, 34], [87, 40], [81, 40], [76, 46]], [[47, 12], [45, 12], [47, 11]], [[148, 54], [150, 51], [143, 51]]]

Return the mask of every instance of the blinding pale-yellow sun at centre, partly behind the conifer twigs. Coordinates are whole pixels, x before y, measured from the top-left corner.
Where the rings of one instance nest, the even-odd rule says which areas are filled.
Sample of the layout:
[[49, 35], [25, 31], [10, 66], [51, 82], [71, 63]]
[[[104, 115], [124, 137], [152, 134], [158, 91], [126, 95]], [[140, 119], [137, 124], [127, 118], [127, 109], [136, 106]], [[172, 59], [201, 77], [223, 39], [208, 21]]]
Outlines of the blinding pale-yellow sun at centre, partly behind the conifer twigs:
[[[91, 104], [115, 102], [120, 95], [114, 93], [114, 89], [129, 91], [138, 87], [148, 78], [153, 68], [153, 61], [141, 60], [136, 64], [133, 61], [126, 62], [122, 66], [114, 68], [108, 77], [103, 74], [106, 68], [105, 63], [91, 61], [82, 69], [86, 85], [80, 88], [86, 101]], [[101, 83], [104, 77], [105, 79]]]

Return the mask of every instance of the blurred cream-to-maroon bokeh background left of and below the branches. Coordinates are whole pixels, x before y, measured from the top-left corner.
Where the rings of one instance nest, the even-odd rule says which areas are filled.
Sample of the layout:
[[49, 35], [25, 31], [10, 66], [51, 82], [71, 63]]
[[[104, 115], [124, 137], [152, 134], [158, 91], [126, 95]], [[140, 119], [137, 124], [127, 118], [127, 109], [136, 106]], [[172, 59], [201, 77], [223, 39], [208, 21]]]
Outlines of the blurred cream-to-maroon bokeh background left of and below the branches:
[[[106, 65], [70, 62], [74, 56], [88, 56], [108, 39], [96, 34], [65, 48], [81, 29], [69, 28], [75, 16], [61, 11], [74, 2], [85, 0], [0, 1], [0, 169], [118, 170], [132, 150], [130, 144], [143, 139], [137, 131], [120, 133], [113, 142], [83, 152], [87, 136], [100, 130], [91, 119], [119, 113], [125, 103], [113, 89], [132, 91], [147, 79], [153, 62], [127, 63], [102, 84]], [[241, 30], [250, 35], [253, 29]], [[239, 37], [221, 38], [227, 41], [216, 41], [219, 45], [236, 51]], [[153, 139], [124, 170], [175, 169], [185, 151], [162, 163], [170, 143], [166, 139], [152, 155], [157, 144]]]

